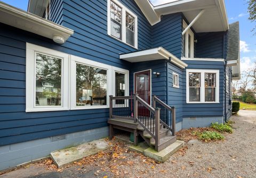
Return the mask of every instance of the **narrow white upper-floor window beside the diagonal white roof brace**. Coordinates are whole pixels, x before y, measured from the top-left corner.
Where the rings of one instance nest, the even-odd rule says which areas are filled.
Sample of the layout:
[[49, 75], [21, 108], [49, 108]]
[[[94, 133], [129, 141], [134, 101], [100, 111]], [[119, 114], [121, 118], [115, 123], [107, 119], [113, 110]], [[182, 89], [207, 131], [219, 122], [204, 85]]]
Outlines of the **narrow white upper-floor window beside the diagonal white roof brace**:
[[[183, 30], [188, 27], [187, 23], [183, 21]], [[183, 57], [193, 58], [194, 57], [194, 33], [188, 29], [183, 35]]]

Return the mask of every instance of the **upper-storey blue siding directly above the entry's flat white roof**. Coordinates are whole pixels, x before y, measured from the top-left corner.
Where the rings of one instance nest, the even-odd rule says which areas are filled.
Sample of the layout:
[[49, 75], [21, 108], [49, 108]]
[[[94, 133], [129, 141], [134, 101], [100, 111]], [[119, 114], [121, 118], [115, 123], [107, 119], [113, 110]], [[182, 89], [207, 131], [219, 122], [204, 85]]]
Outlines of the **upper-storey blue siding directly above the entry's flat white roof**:
[[164, 15], [161, 22], [152, 27], [153, 47], [162, 46], [176, 57], [182, 53], [182, 15]]

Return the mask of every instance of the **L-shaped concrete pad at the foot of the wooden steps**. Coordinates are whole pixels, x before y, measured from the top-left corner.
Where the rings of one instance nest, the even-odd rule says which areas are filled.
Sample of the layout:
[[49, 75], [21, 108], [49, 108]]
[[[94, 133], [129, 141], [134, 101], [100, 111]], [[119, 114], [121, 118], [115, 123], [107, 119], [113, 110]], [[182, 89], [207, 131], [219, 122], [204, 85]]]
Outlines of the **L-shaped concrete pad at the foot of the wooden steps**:
[[157, 152], [155, 149], [149, 147], [145, 142], [139, 143], [138, 146], [130, 146], [129, 149], [144, 154], [147, 157], [153, 158], [158, 162], [165, 162], [171, 155], [184, 146], [184, 141], [177, 140], [172, 145]]

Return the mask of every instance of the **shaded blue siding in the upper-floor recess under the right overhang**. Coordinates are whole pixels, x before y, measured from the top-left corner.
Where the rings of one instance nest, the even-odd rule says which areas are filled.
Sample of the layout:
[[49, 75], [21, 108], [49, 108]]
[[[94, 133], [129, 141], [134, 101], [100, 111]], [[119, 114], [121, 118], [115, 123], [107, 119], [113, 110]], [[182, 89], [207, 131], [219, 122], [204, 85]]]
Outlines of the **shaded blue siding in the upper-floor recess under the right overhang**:
[[226, 32], [196, 33], [195, 57], [225, 58], [227, 40]]

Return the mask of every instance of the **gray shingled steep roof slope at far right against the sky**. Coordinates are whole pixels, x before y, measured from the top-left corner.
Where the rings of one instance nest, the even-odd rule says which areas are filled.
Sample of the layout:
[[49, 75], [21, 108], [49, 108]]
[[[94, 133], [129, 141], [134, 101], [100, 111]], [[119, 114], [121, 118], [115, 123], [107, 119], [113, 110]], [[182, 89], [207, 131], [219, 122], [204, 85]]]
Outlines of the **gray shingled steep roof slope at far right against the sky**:
[[227, 61], [239, 59], [239, 22], [229, 24]]

